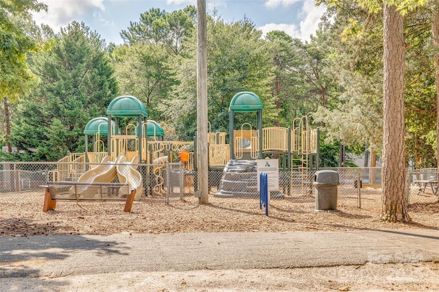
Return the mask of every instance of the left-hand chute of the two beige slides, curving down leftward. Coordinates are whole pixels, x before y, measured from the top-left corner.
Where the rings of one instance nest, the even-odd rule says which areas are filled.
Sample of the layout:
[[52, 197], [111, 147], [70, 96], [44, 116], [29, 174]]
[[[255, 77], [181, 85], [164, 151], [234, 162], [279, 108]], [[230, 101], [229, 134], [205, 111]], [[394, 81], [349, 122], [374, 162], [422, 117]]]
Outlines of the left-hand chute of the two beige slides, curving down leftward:
[[[116, 176], [116, 165], [111, 161], [111, 157], [106, 156], [102, 159], [101, 165], [84, 172], [78, 179], [78, 183], [111, 183]], [[75, 196], [78, 196], [78, 198], [80, 196], [82, 198], [94, 198], [98, 192], [99, 187], [78, 185], [69, 189], [69, 196], [71, 198], [75, 198]]]

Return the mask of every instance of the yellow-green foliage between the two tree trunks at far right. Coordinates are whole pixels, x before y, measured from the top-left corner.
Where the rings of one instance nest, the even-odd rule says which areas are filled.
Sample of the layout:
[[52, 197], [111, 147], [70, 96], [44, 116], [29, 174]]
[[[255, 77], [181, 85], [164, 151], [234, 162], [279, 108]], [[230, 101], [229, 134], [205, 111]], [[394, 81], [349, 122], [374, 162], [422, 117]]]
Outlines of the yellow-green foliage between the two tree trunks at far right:
[[405, 16], [405, 151], [415, 168], [436, 162], [436, 85], [429, 10]]

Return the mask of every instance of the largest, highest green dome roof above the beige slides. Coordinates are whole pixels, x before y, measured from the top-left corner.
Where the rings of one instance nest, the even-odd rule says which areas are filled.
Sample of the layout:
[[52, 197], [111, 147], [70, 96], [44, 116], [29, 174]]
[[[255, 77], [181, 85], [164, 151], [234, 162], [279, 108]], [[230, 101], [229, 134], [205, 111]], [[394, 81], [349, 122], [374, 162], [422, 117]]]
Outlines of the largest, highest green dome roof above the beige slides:
[[148, 116], [145, 106], [134, 96], [119, 96], [108, 105], [107, 114], [115, 117]]

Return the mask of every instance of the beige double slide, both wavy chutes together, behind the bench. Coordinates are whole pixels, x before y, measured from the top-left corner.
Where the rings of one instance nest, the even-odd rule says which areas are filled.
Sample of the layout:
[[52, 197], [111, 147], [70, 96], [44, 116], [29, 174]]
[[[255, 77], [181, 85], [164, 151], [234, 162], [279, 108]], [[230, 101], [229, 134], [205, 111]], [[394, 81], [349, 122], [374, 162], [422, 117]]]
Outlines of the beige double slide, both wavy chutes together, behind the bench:
[[[78, 183], [112, 183], [115, 178], [119, 183], [128, 183], [127, 187], [119, 189], [119, 196], [130, 194], [131, 189], [136, 189], [134, 200], [140, 200], [142, 194], [142, 176], [135, 170], [131, 163], [137, 163], [138, 157], [134, 157], [131, 162], [126, 161], [126, 157], [119, 156], [116, 161], [111, 161], [111, 157], [106, 156], [102, 159], [102, 164], [88, 170], [78, 179]], [[75, 190], [76, 188], [76, 190]], [[91, 185], [78, 185], [69, 189], [69, 196], [82, 198], [94, 198], [99, 193], [100, 187]]]

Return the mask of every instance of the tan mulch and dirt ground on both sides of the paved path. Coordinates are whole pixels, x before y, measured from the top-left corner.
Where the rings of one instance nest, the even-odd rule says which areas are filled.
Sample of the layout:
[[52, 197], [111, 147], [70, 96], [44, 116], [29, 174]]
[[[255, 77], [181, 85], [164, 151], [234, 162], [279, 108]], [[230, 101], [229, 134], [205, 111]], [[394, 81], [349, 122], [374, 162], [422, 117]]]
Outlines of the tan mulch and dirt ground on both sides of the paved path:
[[[182, 201], [173, 198], [165, 204], [164, 198], [143, 198], [134, 202], [131, 212], [123, 212], [123, 202], [57, 202], [56, 209], [45, 213], [42, 211], [43, 191], [1, 194], [0, 237], [219, 231], [439, 230], [438, 202], [411, 204], [408, 208], [412, 217], [410, 224], [388, 223], [379, 219], [381, 190], [365, 189], [361, 196], [361, 209], [340, 200], [337, 211], [322, 212], [314, 211], [312, 200], [302, 203], [272, 200], [269, 215], [265, 216], [264, 211], [259, 209], [259, 202], [254, 199], [212, 197], [209, 204], [198, 204], [197, 199], [185, 197]], [[59, 289], [42, 287], [35, 290], [30, 287], [38, 286], [36, 279], [27, 279], [27, 286], [20, 286], [19, 279], [0, 279], [0, 287], [5, 291], [16, 291], [17, 287], [28, 287], [27, 291], [120, 291], [120, 287], [130, 287], [128, 291], [137, 291], [141, 289], [141, 283], [148, 282], [148, 291], [436, 291], [439, 290], [438, 275], [439, 261], [269, 271], [157, 272], [132, 274], [130, 278], [118, 274], [105, 278], [73, 276], [68, 279], [69, 285], [57, 286]], [[51, 279], [54, 285], [66, 280]], [[123, 286], [123, 283], [128, 286]]]

